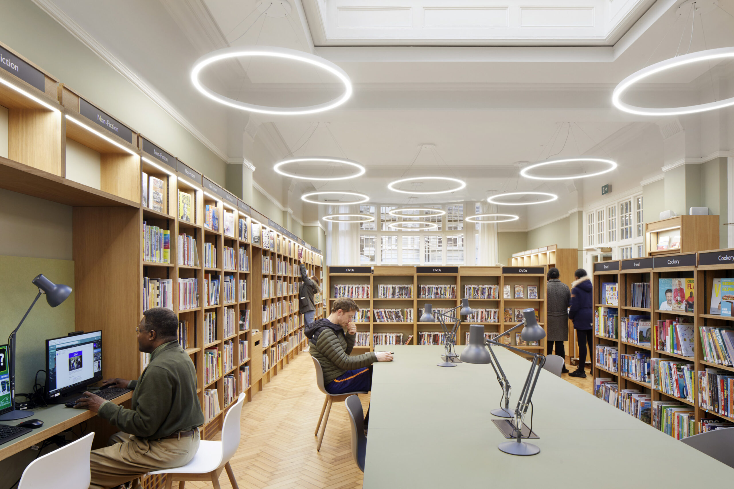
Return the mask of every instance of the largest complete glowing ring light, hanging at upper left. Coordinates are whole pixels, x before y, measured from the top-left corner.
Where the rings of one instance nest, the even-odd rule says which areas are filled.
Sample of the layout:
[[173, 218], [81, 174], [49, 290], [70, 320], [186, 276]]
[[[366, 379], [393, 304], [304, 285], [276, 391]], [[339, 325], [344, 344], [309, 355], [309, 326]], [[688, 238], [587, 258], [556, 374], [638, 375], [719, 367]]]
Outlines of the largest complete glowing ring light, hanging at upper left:
[[[269, 106], [258, 106], [252, 103], [241, 102], [240, 100], [234, 100], [233, 98], [225, 97], [214, 90], [206, 87], [199, 79], [201, 71], [209, 65], [221, 62], [225, 59], [233, 58], [279, 58], [279, 59], [292, 59], [311, 65], [313, 67], [321, 68], [321, 70], [331, 73], [332, 75], [339, 78], [342, 84], [344, 84], [344, 93], [338, 98], [330, 100], [328, 102], [319, 103], [315, 106], [305, 107], [269, 107]], [[222, 103], [225, 106], [233, 107], [234, 109], [241, 109], [244, 111], [257, 112], [258, 114], [274, 114], [274, 115], [298, 115], [298, 114], [315, 114], [316, 112], [323, 112], [335, 107], [341, 106], [342, 103], [346, 102], [349, 97], [352, 96], [352, 81], [349, 80], [349, 76], [344, 70], [335, 65], [333, 62], [327, 61], [327, 59], [321, 58], [314, 54], [306, 53], [305, 51], [297, 51], [296, 49], [278, 48], [275, 46], [243, 46], [233, 48], [217, 49], [217, 51], [211, 51], [211, 53], [205, 54], [197, 59], [196, 64], [191, 70], [191, 82], [194, 87], [211, 100]]]

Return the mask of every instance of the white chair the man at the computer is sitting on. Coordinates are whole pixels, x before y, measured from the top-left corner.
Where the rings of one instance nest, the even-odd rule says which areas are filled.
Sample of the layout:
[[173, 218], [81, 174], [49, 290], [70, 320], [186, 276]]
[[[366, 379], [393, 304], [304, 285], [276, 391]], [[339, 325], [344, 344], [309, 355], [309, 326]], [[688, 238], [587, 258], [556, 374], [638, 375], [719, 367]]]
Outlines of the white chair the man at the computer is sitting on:
[[185, 466], [164, 468], [148, 474], [166, 474], [166, 489], [171, 489], [174, 481], [178, 481], [178, 489], [183, 489], [187, 480], [210, 481], [214, 489], [219, 489], [219, 474], [222, 474], [223, 468], [227, 471], [233, 489], [239, 489], [229, 460], [239, 447], [240, 416], [243, 404], [244, 392], [239, 394], [236, 404], [225, 415], [225, 422], [222, 423], [222, 441], [202, 440], [196, 455]]

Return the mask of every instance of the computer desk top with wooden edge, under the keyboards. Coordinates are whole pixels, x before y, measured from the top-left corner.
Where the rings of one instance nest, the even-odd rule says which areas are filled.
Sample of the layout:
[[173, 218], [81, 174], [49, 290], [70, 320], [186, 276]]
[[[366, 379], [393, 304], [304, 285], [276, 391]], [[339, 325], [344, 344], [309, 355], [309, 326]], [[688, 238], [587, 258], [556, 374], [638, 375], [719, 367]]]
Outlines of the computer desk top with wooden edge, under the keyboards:
[[[115, 404], [122, 404], [128, 399], [133, 397], [132, 392], [126, 392], [125, 394], [115, 397], [110, 402]], [[0, 445], [0, 460], [4, 460], [10, 455], [21, 452], [33, 446], [46, 438], [57, 435], [62, 431], [68, 430], [70, 427], [76, 426], [81, 422], [87, 421], [87, 419], [97, 416], [97, 413], [87, 411], [86, 409], [67, 408], [63, 404], [48, 405], [46, 408], [37, 408], [33, 410], [33, 416], [29, 416], [25, 419], [15, 419], [13, 421], [5, 421], [1, 424], [19, 424], [29, 419], [40, 419], [43, 421], [43, 426], [36, 428], [31, 433], [26, 433], [23, 436], [18, 436], [7, 443]]]

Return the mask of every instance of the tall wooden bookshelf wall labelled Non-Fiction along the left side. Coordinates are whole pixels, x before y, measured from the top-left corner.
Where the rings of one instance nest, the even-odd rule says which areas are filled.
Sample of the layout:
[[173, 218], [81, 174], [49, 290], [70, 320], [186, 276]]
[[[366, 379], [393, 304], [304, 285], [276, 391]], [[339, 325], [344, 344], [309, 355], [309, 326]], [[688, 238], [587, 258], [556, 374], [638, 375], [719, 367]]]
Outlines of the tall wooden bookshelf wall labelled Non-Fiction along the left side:
[[[321, 252], [17, 58], [22, 78], [0, 70], [0, 106], [8, 109], [0, 188], [73, 207], [75, 327], [102, 329], [114, 345], [105, 375], [137, 378], [145, 368], [134, 330], [146, 307], [177, 313], [206, 411], [203, 438], [211, 438], [240, 392], [251, 400], [305, 345], [298, 257], [320, 276]], [[258, 232], [272, 236], [265, 251], [263, 236], [252, 235], [255, 219]], [[263, 257], [274, 261], [269, 278], [280, 283], [266, 299]], [[264, 305], [275, 305], [276, 315], [262, 323]], [[264, 349], [266, 330], [272, 343]], [[265, 372], [264, 354], [272, 359]], [[105, 441], [112, 433], [103, 424], [94, 430]]]

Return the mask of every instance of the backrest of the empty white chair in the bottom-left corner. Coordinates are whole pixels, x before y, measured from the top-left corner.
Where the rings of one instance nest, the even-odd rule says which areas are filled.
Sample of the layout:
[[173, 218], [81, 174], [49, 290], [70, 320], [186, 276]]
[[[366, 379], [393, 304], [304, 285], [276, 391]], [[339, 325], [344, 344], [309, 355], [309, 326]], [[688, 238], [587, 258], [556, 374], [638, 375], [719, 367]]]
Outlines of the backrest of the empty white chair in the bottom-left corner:
[[93, 432], [33, 460], [23, 471], [18, 489], [88, 489], [92, 440]]

